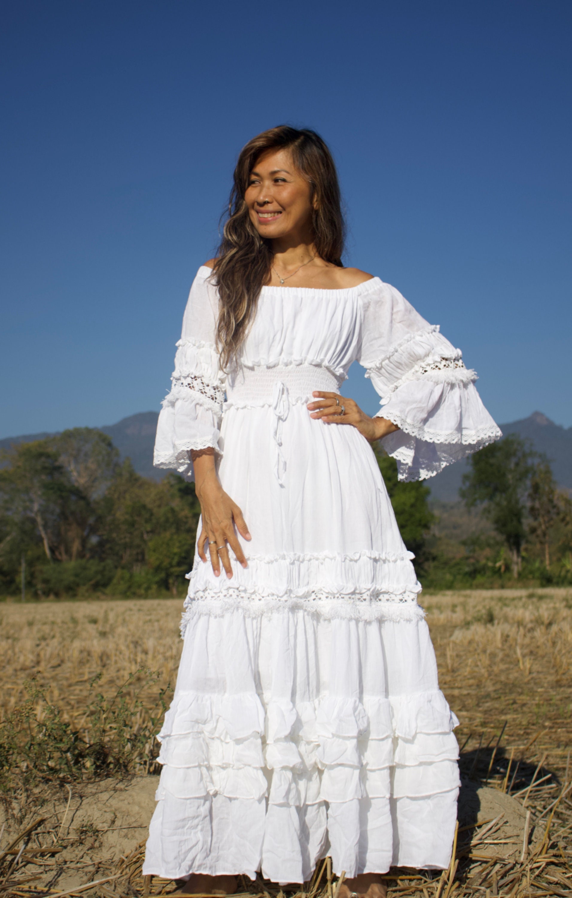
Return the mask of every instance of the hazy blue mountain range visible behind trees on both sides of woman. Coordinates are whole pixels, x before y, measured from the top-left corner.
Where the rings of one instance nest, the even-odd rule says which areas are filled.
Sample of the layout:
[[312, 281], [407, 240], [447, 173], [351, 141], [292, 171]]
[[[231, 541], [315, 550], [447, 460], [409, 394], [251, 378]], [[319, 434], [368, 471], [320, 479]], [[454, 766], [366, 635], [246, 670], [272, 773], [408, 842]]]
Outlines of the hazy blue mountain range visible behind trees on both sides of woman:
[[[161, 480], [165, 471], [153, 467], [153, 445], [158, 413], [143, 411], [138, 415], [123, 418], [117, 424], [100, 427], [104, 434], [109, 434], [118, 447], [121, 458], [127, 456], [133, 462], [135, 470], [144, 477]], [[504, 434], [520, 434], [529, 439], [538, 452], [545, 453], [552, 464], [554, 477], [561, 487], [572, 489], [572, 427], [560, 427], [543, 415], [534, 411], [529, 418], [501, 424]], [[14, 443], [30, 443], [50, 434], [30, 434], [28, 436], [8, 436], [0, 440], [0, 448], [9, 448]], [[445, 468], [436, 477], [427, 480], [431, 488], [431, 498], [442, 502], [454, 502], [458, 499], [462, 475], [467, 470], [467, 462], [457, 462]]]

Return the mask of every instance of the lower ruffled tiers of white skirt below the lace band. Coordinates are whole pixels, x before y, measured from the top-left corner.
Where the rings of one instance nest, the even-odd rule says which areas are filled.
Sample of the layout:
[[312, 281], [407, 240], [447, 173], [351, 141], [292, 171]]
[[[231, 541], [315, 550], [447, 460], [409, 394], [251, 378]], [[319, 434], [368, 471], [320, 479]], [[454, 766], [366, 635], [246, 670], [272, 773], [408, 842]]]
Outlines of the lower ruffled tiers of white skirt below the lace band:
[[190, 603], [145, 875], [447, 867], [457, 720], [426, 621], [384, 604], [367, 621]]

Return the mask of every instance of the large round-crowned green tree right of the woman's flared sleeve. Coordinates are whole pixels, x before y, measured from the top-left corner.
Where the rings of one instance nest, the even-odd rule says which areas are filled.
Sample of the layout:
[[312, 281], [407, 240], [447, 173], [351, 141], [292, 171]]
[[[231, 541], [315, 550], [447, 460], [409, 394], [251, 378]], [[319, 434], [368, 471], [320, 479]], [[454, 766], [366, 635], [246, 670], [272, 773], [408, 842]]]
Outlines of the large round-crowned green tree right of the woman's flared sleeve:
[[483, 506], [498, 535], [506, 543], [513, 576], [522, 568], [526, 536], [527, 494], [536, 453], [516, 434], [508, 434], [471, 455], [471, 471], [463, 474], [459, 495], [468, 508]]

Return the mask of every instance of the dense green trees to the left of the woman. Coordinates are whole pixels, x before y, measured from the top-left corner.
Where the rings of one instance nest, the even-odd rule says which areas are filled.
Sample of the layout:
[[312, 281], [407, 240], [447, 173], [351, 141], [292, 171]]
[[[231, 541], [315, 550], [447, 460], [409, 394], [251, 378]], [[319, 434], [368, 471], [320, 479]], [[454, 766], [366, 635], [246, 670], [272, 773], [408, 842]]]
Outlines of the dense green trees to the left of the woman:
[[175, 474], [141, 477], [90, 427], [15, 445], [0, 471], [0, 592], [173, 594], [191, 567], [200, 508]]

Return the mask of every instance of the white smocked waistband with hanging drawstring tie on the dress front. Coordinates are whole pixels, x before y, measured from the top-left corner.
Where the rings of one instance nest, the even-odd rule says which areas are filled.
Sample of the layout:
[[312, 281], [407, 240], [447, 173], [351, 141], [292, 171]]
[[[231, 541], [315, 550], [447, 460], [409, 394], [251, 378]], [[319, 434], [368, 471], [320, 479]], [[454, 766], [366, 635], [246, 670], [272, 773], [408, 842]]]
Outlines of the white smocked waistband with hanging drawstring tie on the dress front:
[[282, 451], [282, 431], [290, 406], [312, 401], [312, 392], [339, 392], [345, 374], [334, 374], [321, 365], [276, 365], [268, 368], [243, 368], [229, 378], [226, 387], [226, 409], [272, 409], [272, 439], [276, 446], [274, 473], [284, 487], [286, 459]]

